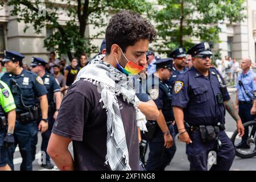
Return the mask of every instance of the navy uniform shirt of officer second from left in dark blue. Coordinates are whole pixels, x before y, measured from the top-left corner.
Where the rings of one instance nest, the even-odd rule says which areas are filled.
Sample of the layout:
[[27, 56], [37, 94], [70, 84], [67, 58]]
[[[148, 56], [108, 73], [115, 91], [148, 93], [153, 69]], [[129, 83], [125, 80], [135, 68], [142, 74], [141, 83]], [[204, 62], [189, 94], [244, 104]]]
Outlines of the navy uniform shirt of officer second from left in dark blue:
[[48, 104], [53, 104], [53, 94], [55, 92], [60, 92], [60, 85], [57, 84], [55, 77], [50, 75], [49, 73], [44, 74], [42, 77], [44, 86], [47, 89], [47, 99], [48, 99]]

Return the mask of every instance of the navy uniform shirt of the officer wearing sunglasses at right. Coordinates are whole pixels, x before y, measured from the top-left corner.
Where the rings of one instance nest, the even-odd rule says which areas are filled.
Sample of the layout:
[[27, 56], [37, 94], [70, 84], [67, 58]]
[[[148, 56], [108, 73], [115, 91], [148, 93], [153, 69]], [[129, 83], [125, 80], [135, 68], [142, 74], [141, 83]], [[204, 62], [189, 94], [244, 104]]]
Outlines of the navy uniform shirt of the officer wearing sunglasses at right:
[[[217, 104], [216, 95], [221, 94], [220, 83], [215, 68], [209, 69], [209, 76], [204, 77], [195, 67], [177, 77], [172, 91], [172, 106], [183, 108], [184, 120], [192, 126], [216, 125], [225, 123], [224, 104]], [[223, 83], [224, 79], [220, 75]], [[225, 89], [223, 100], [230, 100]]]

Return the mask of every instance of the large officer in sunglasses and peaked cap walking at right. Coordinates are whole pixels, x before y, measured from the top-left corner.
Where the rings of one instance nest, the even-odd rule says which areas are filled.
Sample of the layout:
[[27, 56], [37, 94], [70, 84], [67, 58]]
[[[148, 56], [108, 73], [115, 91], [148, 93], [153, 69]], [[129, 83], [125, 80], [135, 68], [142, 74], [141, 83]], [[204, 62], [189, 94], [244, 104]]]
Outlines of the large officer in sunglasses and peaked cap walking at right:
[[217, 155], [210, 170], [229, 170], [235, 151], [224, 131], [225, 107], [236, 120], [240, 136], [244, 133], [241, 119], [230, 101], [224, 79], [211, 68], [209, 44], [197, 44], [187, 53], [192, 56], [193, 67], [177, 77], [172, 92], [179, 139], [187, 143], [191, 170], [207, 170], [208, 154], [213, 159]]

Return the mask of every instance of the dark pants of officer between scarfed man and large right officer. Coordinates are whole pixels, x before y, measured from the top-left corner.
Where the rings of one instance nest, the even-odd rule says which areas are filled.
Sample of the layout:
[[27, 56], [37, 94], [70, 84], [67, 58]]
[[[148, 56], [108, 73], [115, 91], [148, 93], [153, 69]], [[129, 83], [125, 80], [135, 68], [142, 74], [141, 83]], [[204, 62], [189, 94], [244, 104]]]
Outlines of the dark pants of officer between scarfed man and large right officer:
[[159, 127], [156, 128], [154, 139], [148, 139], [150, 152], [146, 164], [147, 171], [163, 171], [170, 164], [172, 158], [174, 158], [176, 152], [174, 126], [170, 125], [169, 130], [174, 139], [171, 148], [164, 147], [163, 132]]

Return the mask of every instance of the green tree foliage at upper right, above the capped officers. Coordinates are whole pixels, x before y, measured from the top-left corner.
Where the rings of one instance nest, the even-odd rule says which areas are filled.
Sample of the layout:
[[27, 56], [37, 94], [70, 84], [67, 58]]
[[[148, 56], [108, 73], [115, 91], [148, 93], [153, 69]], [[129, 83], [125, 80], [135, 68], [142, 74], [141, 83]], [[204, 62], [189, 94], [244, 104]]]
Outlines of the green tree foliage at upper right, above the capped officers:
[[[158, 0], [151, 14], [156, 22], [158, 50], [169, 53], [177, 47], [192, 46], [193, 38], [211, 44], [219, 42], [219, 24], [240, 22], [245, 18], [243, 0]], [[160, 5], [160, 6], [159, 6]]]

